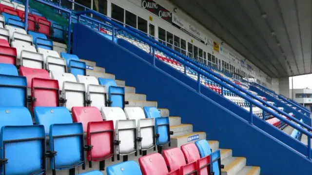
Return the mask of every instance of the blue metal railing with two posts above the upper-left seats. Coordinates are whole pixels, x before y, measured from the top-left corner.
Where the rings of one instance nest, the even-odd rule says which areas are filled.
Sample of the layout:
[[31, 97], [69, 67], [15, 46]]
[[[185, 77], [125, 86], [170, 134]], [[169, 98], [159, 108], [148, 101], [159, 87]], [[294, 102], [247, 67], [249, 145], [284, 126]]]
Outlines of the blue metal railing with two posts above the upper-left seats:
[[[72, 24], [72, 12], [70, 10], [67, 10], [67, 9], [64, 9], [64, 8], [61, 8], [51, 2], [47, 2], [47, 1], [44, 1], [44, 0], [36, 0], [40, 3], [43, 3], [45, 5], [48, 5], [50, 7], [53, 7], [53, 8], [56, 8], [58, 9], [59, 11], [62, 11], [62, 12], [65, 12], [65, 13], [68, 13], [68, 28], [70, 29], [70, 26]], [[28, 12], [29, 10], [29, 0], [26, 0], [25, 2], [25, 12]], [[27, 32], [27, 29], [28, 29], [28, 13], [25, 13], [25, 31]], [[70, 48], [71, 48], [71, 35], [70, 35], [70, 30], [68, 30], [68, 40], [67, 40], [67, 53], [70, 53]]]

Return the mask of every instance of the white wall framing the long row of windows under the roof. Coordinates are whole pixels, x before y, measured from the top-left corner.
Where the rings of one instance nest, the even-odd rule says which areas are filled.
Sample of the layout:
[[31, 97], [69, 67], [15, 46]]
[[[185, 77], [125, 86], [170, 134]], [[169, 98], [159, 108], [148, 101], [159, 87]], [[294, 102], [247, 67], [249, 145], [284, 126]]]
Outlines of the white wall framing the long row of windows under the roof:
[[[235, 68], [240, 68], [245, 73], [250, 74], [250, 75], [252, 75], [253, 77], [255, 77], [257, 79], [260, 79], [262, 82], [265, 82], [266, 84], [269, 84], [265, 80], [265, 77], [267, 75], [265, 75], [262, 71], [260, 71], [260, 69], [257, 68], [255, 65], [251, 64], [250, 61], [245, 61], [245, 62], [248, 62], [249, 64], [251, 64], [253, 66], [255, 74], [253, 74], [252, 72], [248, 71], [246, 68], [241, 67], [239, 64], [233, 62], [229, 58], [226, 58], [223, 55], [221, 55], [220, 53], [214, 51], [212, 48], [208, 47], [207, 45], [203, 44], [202, 42], [198, 41], [197, 39], [195, 39], [195, 38], [191, 37], [190, 35], [186, 34], [182, 30], [176, 28], [171, 23], [169, 23], [169, 22], [167, 22], [167, 21], [165, 21], [163, 19], [160, 19], [156, 15], [154, 15], [153, 13], [151, 13], [151, 12], [141, 8], [141, 0], [109, 0], [109, 1], [112, 2], [112, 3], [117, 4], [118, 6], [124, 8], [125, 10], [128, 10], [129, 12], [132, 12], [132, 13], [136, 14], [137, 16], [139, 16], [139, 17], [141, 17], [143, 19], [146, 19], [148, 22], [154, 24], [155, 27], [156, 27], [155, 28], [156, 29], [155, 30], [156, 37], [158, 35], [157, 28], [159, 26], [159, 27], [169, 31], [170, 33], [173, 33], [177, 37], [186, 40], [187, 42], [192, 43], [192, 40], [193, 40], [193, 44], [195, 46], [203, 49], [205, 52], [213, 54], [213, 55], [215, 55], [216, 58], [224, 60], [224, 61], [226, 61], [228, 63], [231, 63], [233, 66], [235, 66]], [[161, 6], [165, 7], [166, 9], [168, 9], [169, 11], [175, 13], [174, 10], [173, 10], [175, 8], [175, 6], [171, 2], [169, 2], [168, 0], [155, 0], [155, 1], [158, 4], [160, 4]], [[187, 21], [190, 25], [194, 26], [197, 30], [199, 30], [201, 33], [203, 33], [204, 35], [206, 35], [210, 39], [213, 39], [215, 42], [221, 44], [222, 40], [220, 40], [215, 35], [213, 35], [208, 29], [206, 29], [205, 27], [203, 27], [202, 25], [197, 23], [194, 19], [189, 17], [182, 10], [178, 9], [175, 14], [178, 17], [180, 17], [180, 18], [184, 19], [185, 21]], [[153, 21], [149, 20], [150, 16], [153, 18]], [[233, 48], [227, 46], [226, 43], [224, 43], [224, 45], [222, 45], [222, 46], [224, 48], [226, 48], [227, 50], [229, 50], [231, 53], [233, 53], [236, 56], [238, 56], [240, 59], [243, 59], [243, 60], [245, 59], [240, 54], [238, 54], [236, 51], [234, 51]], [[260, 74], [262, 75], [262, 78], [260, 77]]]

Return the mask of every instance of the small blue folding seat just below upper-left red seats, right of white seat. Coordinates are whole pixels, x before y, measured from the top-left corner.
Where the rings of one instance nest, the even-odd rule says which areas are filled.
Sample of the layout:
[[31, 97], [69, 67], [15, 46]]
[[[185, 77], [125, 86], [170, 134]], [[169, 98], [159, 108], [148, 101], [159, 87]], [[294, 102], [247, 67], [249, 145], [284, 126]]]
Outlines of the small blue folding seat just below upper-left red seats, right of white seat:
[[47, 50], [53, 50], [53, 41], [47, 39], [47, 36], [44, 34], [28, 31], [28, 34], [33, 36], [33, 42], [36, 45], [36, 49], [43, 48]]

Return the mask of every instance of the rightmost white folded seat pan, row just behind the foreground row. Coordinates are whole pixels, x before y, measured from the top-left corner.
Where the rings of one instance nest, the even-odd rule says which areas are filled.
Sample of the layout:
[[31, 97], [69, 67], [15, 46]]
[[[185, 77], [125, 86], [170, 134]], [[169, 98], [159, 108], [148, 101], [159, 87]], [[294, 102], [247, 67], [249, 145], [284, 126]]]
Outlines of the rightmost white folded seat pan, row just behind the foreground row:
[[107, 93], [105, 86], [89, 84], [87, 89], [87, 98], [92, 101], [91, 106], [97, 107], [98, 110], [101, 107], [106, 106]]

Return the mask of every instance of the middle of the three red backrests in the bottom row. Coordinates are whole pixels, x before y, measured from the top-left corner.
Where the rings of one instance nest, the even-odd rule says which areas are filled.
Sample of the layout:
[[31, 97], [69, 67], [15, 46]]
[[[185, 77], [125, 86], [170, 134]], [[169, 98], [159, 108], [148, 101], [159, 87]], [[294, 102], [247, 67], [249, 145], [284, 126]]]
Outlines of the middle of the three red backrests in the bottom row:
[[186, 165], [186, 161], [182, 151], [179, 148], [172, 148], [163, 151], [163, 157], [169, 169], [169, 172], [180, 169]]

